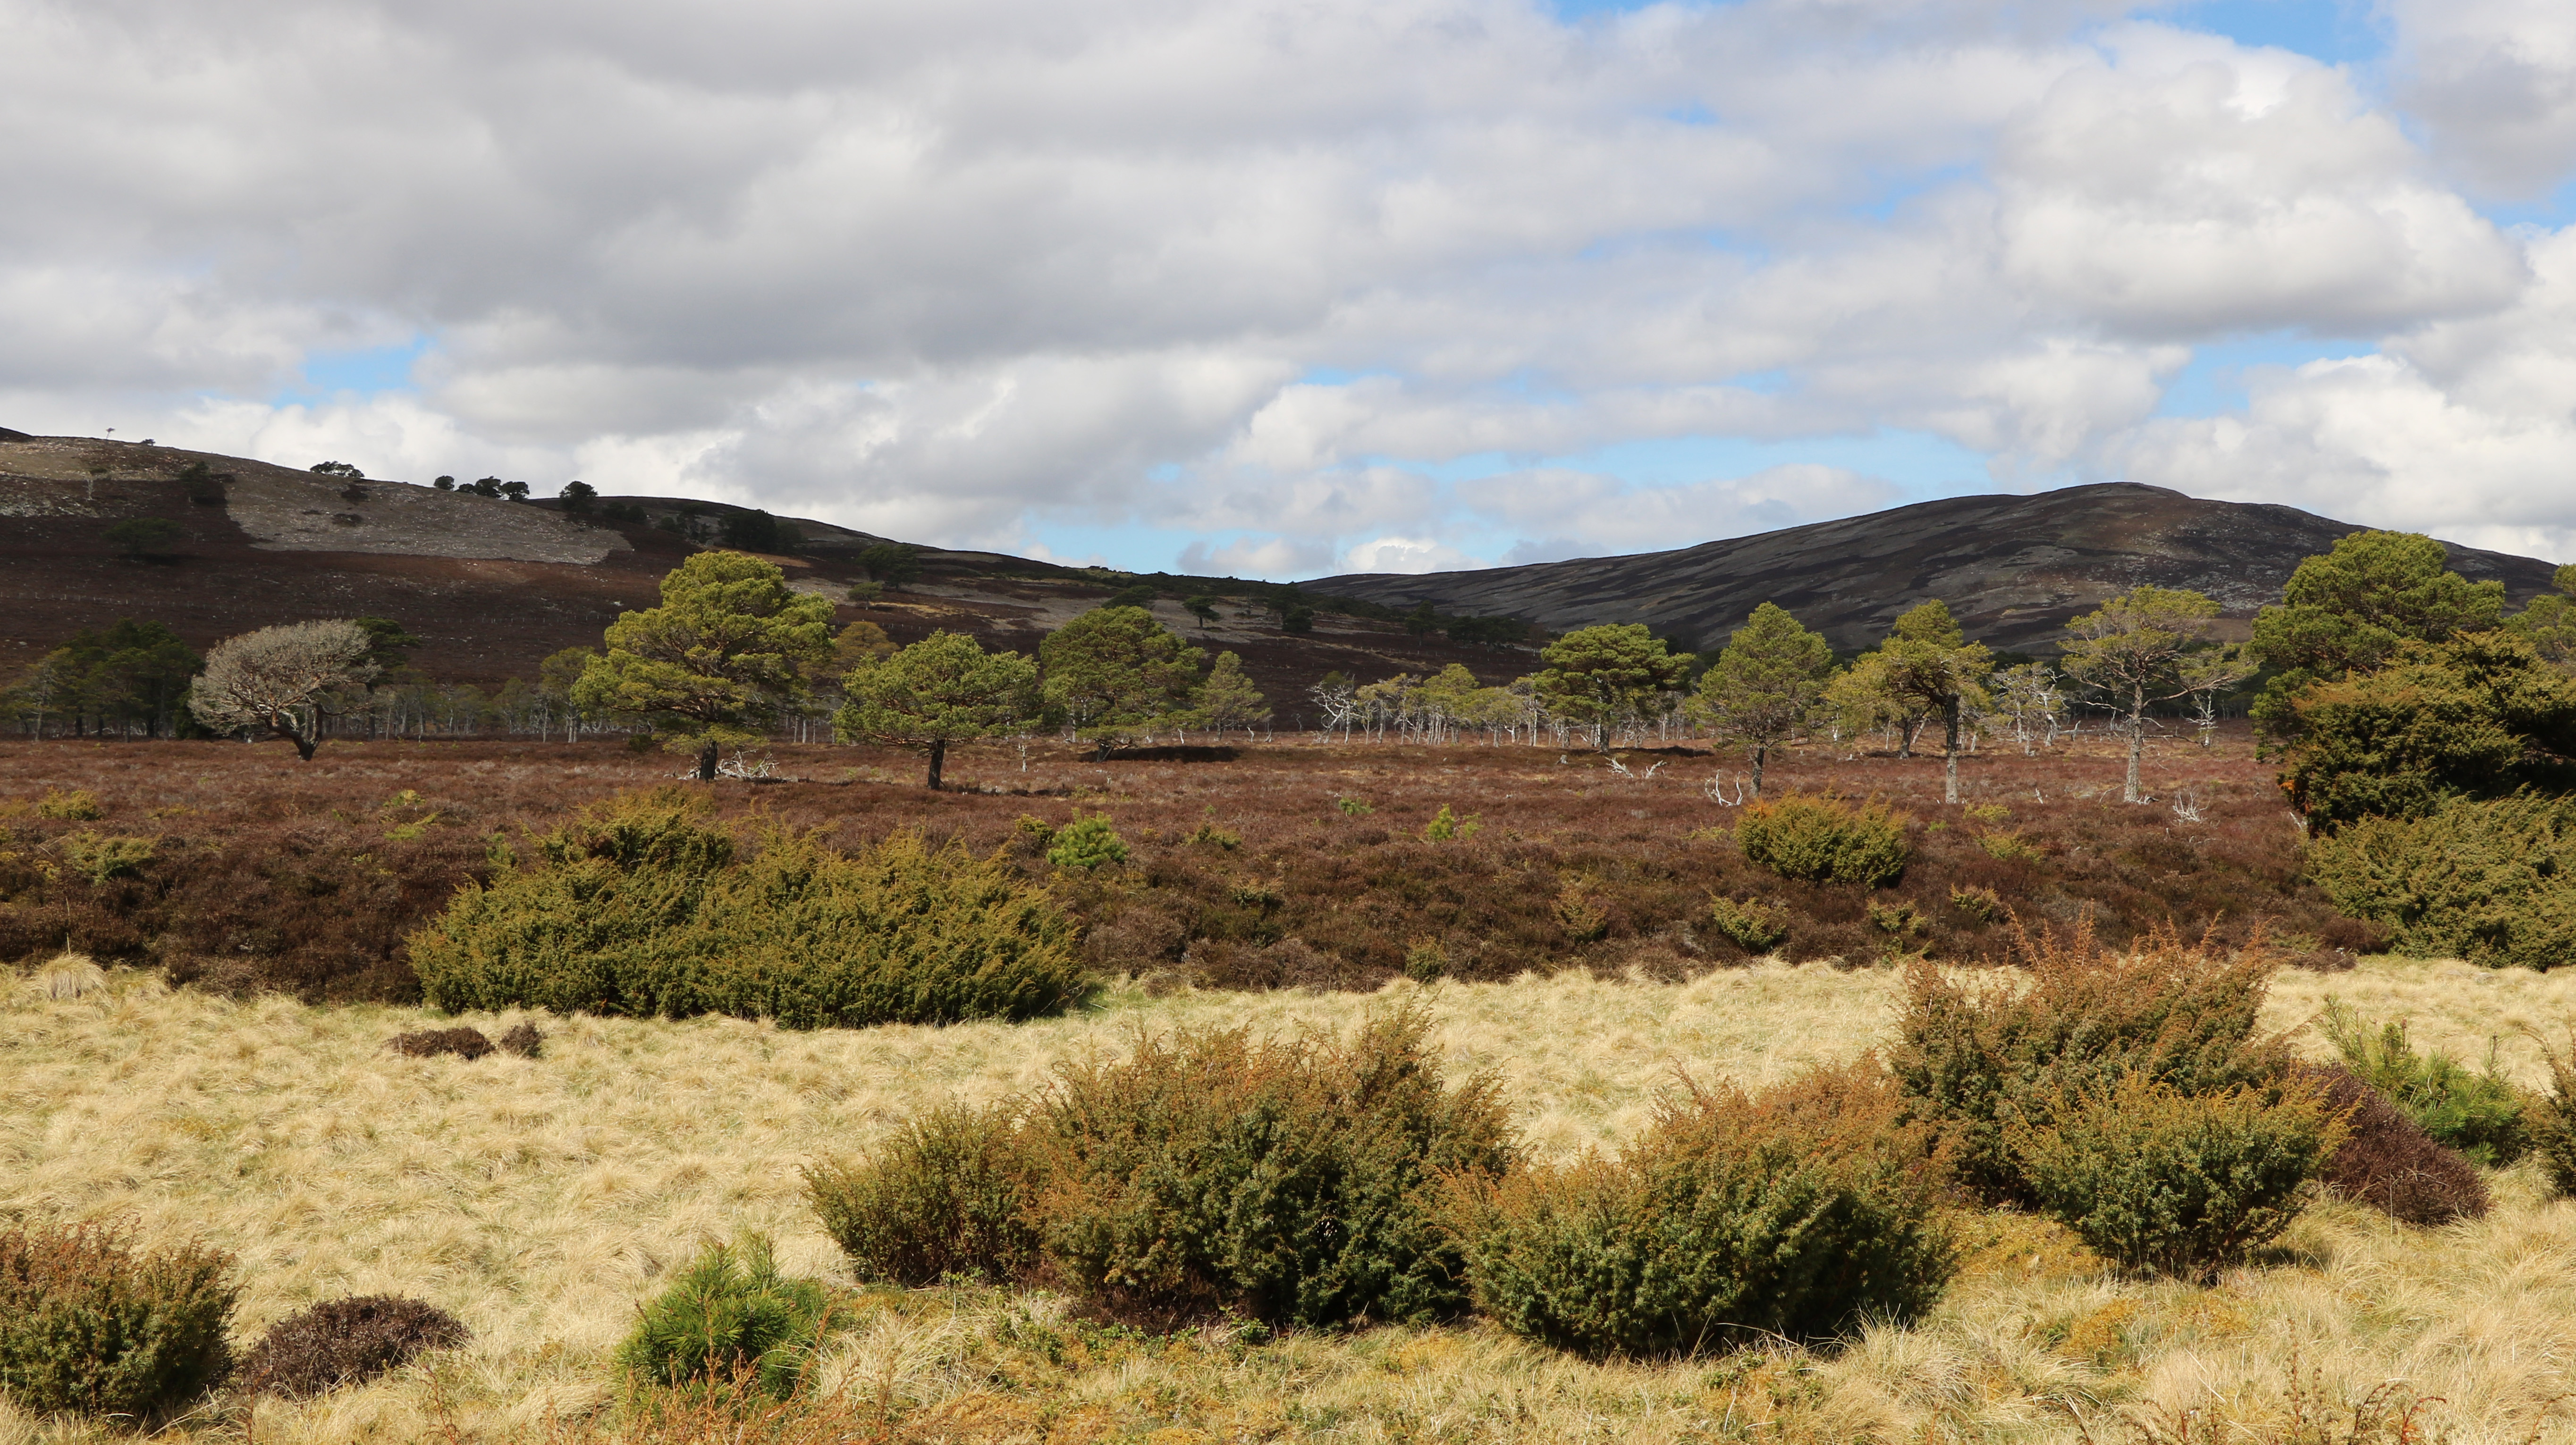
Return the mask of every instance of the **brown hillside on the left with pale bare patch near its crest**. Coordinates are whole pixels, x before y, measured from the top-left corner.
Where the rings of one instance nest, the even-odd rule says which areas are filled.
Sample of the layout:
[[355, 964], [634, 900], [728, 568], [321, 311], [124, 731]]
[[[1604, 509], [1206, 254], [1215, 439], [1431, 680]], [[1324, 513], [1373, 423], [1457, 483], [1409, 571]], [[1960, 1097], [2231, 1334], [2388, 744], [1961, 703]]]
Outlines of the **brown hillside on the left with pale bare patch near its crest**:
[[[618, 518], [608, 515], [616, 505]], [[440, 683], [533, 677], [564, 647], [598, 647], [626, 608], [744, 507], [685, 497], [600, 497], [592, 515], [384, 479], [343, 479], [237, 456], [98, 438], [0, 430], [0, 685], [75, 631], [149, 618], [191, 647], [270, 623], [384, 616], [425, 644], [412, 665]], [[636, 518], [641, 520], [623, 520]], [[165, 518], [178, 541], [126, 556], [108, 528]], [[896, 641], [935, 628], [1030, 652], [1051, 628], [1121, 587], [1157, 587], [1154, 610], [1213, 652], [1236, 652], [1291, 724], [1306, 685], [1468, 662], [1494, 680], [1525, 654], [1406, 636], [1365, 603], [1327, 610], [1288, 636], [1262, 605], [1270, 585], [1231, 577], [1131, 577], [992, 551], [920, 549], [922, 577], [853, 605], [860, 554], [886, 538], [809, 518], [793, 556], [773, 556], [796, 590], [840, 603], [840, 623], [873, 621]], [[672, 531], [677, 528], [677, 531]], [[1180, 600], [1229, 598], [1211, 623]]]

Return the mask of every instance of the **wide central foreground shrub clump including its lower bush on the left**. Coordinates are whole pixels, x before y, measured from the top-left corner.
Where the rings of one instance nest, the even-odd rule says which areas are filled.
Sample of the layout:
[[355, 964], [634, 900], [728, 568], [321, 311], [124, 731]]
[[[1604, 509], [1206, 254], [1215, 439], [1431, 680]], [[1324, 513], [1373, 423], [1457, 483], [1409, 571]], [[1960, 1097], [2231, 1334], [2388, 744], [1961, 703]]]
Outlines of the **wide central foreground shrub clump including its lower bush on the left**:
[[1510, 1164], [1494, 1084], [1443, 1084], [1430, 1023], [1401, 1010], [1350, 1043], [1146, 1038], [1010, 1110], [935, 1113], [806, 1187], [871, 1278], [1043, 1272], [1149, 1324], [1316, 1327], [1458, 1314], [1440, 1180]]

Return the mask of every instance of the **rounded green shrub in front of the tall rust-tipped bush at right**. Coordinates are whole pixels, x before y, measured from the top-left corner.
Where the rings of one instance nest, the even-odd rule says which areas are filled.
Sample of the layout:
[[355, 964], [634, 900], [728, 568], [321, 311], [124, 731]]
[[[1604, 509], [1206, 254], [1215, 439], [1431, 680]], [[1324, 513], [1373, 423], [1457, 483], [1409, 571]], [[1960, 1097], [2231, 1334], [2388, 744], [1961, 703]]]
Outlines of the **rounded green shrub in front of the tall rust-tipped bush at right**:
[[2040, 1205], [2105, 1260], [2205, 1280], [2298, 1216], [2344, 1138], [2300, 1082], [2187, 1095], [2148, 1072], [2066, 1095], [2009, 1144]]

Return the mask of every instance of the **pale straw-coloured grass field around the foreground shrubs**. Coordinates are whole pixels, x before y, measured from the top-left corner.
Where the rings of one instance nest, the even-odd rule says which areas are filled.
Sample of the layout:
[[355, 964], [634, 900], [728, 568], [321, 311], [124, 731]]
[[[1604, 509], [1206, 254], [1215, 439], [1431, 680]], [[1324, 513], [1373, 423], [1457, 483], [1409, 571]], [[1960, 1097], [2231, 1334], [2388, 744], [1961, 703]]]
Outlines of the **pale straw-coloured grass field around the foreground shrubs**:
[[[1633, 1133], [1674, 1069], [1762, 1082], [1880, 1043], [1896, 974], [1749, 966], [1685, 984], [1587, 971], [1347, 992], [1108, 989], [1033, 1025], [781, 1033], [737, 1020], [538, 1020], [541, 1059], [404, 1059], [428, 1015], [167, 989], [118, 968], [0, 1002], [0, 1218], [126, 1221], [240, 1257], [240, 1334], [319, 1298], [412, 1293], [474, 1329], [453, 1355], [312, 1404], [222, 1399], [178, 1440], [714, 1440], [611, 1409], [613, 1342], [701, 1242], [778, 1239], [848, 1270], [799, 1164], [938, 1100], [1038, 1087], [1139, 1030], [1347, 1028], [1422, 994], [1450, 1066], [1492, 1069], [1543, 1157]], [[2269, 1023], [2339, 994], [2419, 1043], [2537, 1079], [2519, 1025], [2576, 974], [2367, 961], [2287, 971]], [[487, 1033], [513, 1017], [469, 1017]], [[2303, 1048], [2321, 1051], [2313, 1038]], [[1584, 1365], [1489, 1327], [1139, 1337], [1048, 1296], [858, 1290], [829, 1401], [793, 1440], [2576, 1440], [2576, 1205], [2527, 1169], [2478, 1223], [2414, 1231], [2321, 1203], [2210, 1288], [2123, 1280], [2056, 1226], [1991, 1216], [1940, 1311], [1844, 1350]], [[2398, 1381], [2391, 1386], [2391, 1381]], [[2375, 1393], [2378, 1391], [2378, 1393]], [[2437, 1401], [2427, 1396], [2439, 1396]], [[2362, 1409], [2378, 1399], [2385, 1409]], [[2421, 1401], [2421, 1404], [2419, 1404]], [[2362, 1409], [2354, 1432], [2354, 1412]], [[2303, 1427], [2308, 1419], [2313, 1430]], [[2331, 1419], [2326, 1419], [2331, 1417]], [[2308, 1432], [2300, 1432], [2308, 1430]], [[0, 1442], [82, 1440], [8, 1414]]]

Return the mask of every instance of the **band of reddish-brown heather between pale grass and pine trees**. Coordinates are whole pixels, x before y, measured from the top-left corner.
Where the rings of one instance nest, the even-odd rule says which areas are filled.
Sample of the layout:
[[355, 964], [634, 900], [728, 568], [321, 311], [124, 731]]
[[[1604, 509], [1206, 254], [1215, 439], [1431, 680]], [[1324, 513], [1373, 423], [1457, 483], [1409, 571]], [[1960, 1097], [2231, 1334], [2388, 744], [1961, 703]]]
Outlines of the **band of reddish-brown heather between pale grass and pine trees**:
[[[1705, 793], [1739, 760], [1708, 750], [1600, 757], [1486, 744], [1278, 742], [1092, 762], [1059, 744], [958, 750], [961, 788], [912, 786], [907, 755], [778, 747], [783, 783], [711, 786], [719, 814], [824, 829], [840, 847], [920, 827], [933, 845], [1005, 850], [1054, 876], [1108, 974], [1203, 987], [1370, 989], [1406, 971], [1510, 979], [1564, 966], [1677, 979], [1752, 953], [1710, 925], [1728, 899], [1780, 920], [1785, 958], [1847, 966], [1999, 956], [2012, 917], [2105, 943], [2172, 922], [2221, 945], [2257, 927], [2311, 966], [2378, 935], [2300, 881], [2300, 835], [2241, 732], [2151, 757], [2164, 801], [2123, 806], [2120, 760], [2081, 742], [1963, 765], [1945, 809], [1937, 760], [1772, 762], [1777, 791], [1886, 798], [1909, 814], [1901, 883], [1808, 883], [1744, 860], [1744, 817]], [[417, 999], [402, 940], [510, 847], [672, 762], [611, 742], [332, 744], [314, 768], [219, 742], [5, 742], [0, 958], [62, 948], [157, 963], [173, 981], [301, 999]], [[1662, 768], [1643, 778], [1646, 762]], [[88, 791], [103, 822], [41, 817], [49, 791]], [[392, 819], [397, 793], [410, 806]], [[2169, 806], [2190, 798], [2192, 817]], [[1430, 840], [1448, 806], [1473, 837]], [[1048, 868], [1018, 819], [1105, 814], [1133, 850], [1092, 873]], [[420, 824], [420, 814], [433, 822]], [[1206, 827], [1213, 824], [1213, 827]], [[155, 837], [147, 863], [80, 876], [80, 829]], [[70, 842], [67, 842], [70, 840]], [[1749, 935], [1759, 940], [1759, 932]]]

